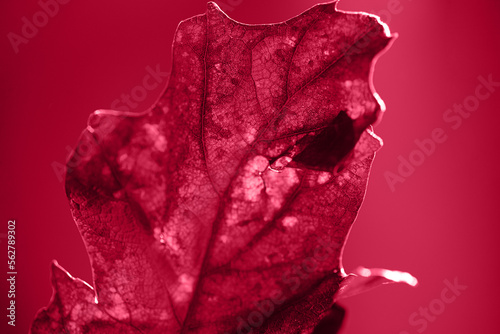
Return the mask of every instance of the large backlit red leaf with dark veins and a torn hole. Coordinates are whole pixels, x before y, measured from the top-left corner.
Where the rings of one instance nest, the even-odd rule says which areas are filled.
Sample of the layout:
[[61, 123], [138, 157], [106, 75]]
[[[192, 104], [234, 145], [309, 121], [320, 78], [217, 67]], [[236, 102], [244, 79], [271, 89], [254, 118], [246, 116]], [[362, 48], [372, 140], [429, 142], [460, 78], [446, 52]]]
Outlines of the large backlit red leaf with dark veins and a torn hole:
[[381, 146], [371, 72], [391, 40], [336, 2], [270, 25], [210, 2], [181, 22], [163, 96], [96, 111], [68, 161], [93, 288], [54, 263], [32, 333], [339, 328], [341, 250]]

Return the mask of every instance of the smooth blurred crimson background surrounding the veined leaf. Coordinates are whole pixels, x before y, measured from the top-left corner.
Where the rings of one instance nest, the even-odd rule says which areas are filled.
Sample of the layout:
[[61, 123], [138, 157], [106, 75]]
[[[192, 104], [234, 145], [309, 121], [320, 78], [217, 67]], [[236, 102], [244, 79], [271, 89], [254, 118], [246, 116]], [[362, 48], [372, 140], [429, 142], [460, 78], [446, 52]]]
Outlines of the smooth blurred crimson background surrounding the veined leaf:
[[[224, 2], [234, 5], [227, 13], [245, 23], [282, 21], [316, 3]], [[401, 0], [392, 8], [391, 2], [339, 4], [375, 14], [392, 9], [383, 19], [400, 35], [376, 66], [374, 83], [387, 112], [375, 131], [385, 146], [375, 159], [344, 264], [347, 272], [358, 265], [409, 271], [420, 285], [386, 286], [345, 300], [342, 333], [417, 333], [409, 316], [439, 299], [443, 280], [454, 278], [467, 289], [425, 333], [498, 333], [500, 87], [456, 130], [443, 113], [474, 94], [479, 75], [500, 81], [500, 3]], [[93, 110], [110, 108], [122, 93], [142, 85], [148, 65], [169, 70], [178, 22], [203, 13], [205, 6], [198, 0], [70, 1], [16, 54], [7, 34], [21, 34], [22, 17], [32, 21], [41, 7], [32, 0], [0, 4], [0, 233], [6, 233], [8, 219], [16, 219], [19, 273], [15, 330], [2, 315], [7, 287], [1, 279], [0, 328], [7, 333], [26, 333], [35, 312], [48, 304], [52, 259], [91, 282], [85, 248], [52, 164], [64, 163], [66, 147], [74, 146]], [[165, 85], [134, 110], [153, 103]], [[398, 156], [408, 158], [414, 140], [429, 138], [436, 127], [443, 128], [446, 142], [391, 191], [384, 173], [397, 172]], [[5, 239], [1, 242], [3, 253]]]

